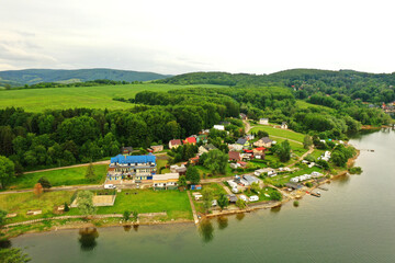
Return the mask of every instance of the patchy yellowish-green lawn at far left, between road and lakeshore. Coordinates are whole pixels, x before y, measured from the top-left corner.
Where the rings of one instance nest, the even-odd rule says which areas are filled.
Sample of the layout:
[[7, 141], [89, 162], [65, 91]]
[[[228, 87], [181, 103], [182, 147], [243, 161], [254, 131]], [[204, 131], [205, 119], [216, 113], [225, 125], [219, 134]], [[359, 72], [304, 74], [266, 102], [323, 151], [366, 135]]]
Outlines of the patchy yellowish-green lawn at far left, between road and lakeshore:
[[[36, 196], [32, 192], [2, 194], [0, 195], [0, 209], [9, 214], [18, 214], [16, 217], [7, 219], [7, 224], [53, 217], [56, 216], [54, 211], [58, 206], [64, 205], [65, 202], [70, 204], [72, 194], [74, 191], [46, 192], [41, 196]], [[35, 209], [43, 210], [43, 214], [37, 216], [26, 215], [27, 210]]]

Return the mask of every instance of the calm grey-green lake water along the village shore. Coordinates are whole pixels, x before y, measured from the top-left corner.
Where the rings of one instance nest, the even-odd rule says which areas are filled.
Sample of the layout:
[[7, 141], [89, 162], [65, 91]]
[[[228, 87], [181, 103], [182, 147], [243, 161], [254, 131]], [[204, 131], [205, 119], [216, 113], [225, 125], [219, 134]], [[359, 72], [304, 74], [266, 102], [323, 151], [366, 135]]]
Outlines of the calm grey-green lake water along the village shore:
[[[346, 175], [274, 210], [193, 224], [25, 235], [32, 262], [395, 262], [395, 132], [351, 140], [361, 175]], [[374, 152], [366, 151], [374, 149]]]

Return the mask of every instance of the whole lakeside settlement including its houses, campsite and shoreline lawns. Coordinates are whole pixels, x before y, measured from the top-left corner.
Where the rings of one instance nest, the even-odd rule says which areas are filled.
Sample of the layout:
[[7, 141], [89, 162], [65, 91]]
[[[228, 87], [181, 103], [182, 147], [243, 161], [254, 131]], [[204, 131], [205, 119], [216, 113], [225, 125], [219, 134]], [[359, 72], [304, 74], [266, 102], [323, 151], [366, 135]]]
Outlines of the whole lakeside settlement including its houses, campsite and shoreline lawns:
[[[228, 127], [237, 122], [236, 130], [244, 136], [230, 137]], [[332, 164], [329, 168], [330, 149], [346, 145], [341, 140], [320, 139], [316, 144], [330, 146], [324, 150], [313, 142], [306, 146], [308, 136], [289, 129], [285, 122], [253, 121], [245, 114], [237, 122], [221, 122], [198, 135], [143, 150], [122, 147], [110, 159], [103, 184], [59, 187], [68, 197], [63, 202], [54, 197], [54, 210], [30, 206], [21, 214], [14, 208], [7, 215], [8, 226], [46, 220], [42, 217], [84, 218], [79, 211], [81, 191], [91, 194], [100, 224], [114, 224], [116, 218], [122, 218], [116, 224], [126, 224], [132, 215], [137, 224], [199, 224], [205, 217], [272, 208], [289, 201], [296, 204], [306, 194], [319, 197], [316, 190], [343, 172]], [[281, 160], [279, 149], [286, 146], [289, 158]], [[43, 197], [60, 194], [46, 192]]]

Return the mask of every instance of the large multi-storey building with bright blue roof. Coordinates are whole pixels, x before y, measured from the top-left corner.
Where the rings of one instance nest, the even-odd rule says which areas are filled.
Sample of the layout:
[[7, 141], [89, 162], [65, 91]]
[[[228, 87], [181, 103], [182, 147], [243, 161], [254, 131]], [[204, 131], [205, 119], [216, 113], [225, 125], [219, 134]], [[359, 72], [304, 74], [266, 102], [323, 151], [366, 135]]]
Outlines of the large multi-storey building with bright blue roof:
[[109, 180], [129, 179], [135, 182], [153, 180], [156, 174], [156, 156], [123, 156], [111, 158]]

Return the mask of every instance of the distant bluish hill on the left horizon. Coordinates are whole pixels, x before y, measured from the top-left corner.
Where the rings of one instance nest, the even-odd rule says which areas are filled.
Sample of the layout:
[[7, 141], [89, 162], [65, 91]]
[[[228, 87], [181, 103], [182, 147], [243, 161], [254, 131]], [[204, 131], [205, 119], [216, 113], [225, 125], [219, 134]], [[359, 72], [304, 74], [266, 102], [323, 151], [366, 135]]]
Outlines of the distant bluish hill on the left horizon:
[[40, 82], [83, 82], [97, 79], [108, 79], [116, 81], [148, 81], [171, 77], [170, 75], [159, 75], [154, 72], [139, 72], [116, 69], [23, 69], [0, 71], [0, 85], [9, 83], [11, 85], [35, 84]]

